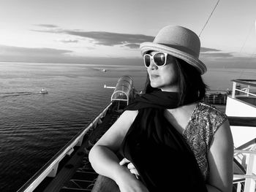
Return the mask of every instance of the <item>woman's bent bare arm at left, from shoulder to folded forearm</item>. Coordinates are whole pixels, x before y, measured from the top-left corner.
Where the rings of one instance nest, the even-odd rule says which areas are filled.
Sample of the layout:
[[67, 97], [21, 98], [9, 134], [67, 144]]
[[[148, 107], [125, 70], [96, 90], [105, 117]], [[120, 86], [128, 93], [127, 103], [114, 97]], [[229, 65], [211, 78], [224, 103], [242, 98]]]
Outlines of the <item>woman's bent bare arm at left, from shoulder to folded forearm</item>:
[[147, 191], [143, 183], [129, 172], [127, 166], [119, 164], [119, 159], [116, 156], [116, 152], [137, 114], [138, 111], [125, 111], [89, 153], [89, 161], [94, 170], [114, 180], [120, 191]]

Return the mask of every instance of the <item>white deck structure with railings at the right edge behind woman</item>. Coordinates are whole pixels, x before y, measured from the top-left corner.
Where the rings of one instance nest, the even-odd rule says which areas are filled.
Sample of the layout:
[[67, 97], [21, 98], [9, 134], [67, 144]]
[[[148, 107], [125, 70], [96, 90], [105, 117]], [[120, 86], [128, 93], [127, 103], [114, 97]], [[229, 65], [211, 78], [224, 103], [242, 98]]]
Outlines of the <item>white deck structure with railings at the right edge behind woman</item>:
[[237, 191], [255, 192], [256, 125], [253, 125], [256, 119], [255, 82], [256, 80], [233, 80], [232, 95], [227, 97], [226, 115], [244, 119], [248, 123], [243, 126], [230, 126], [235, 147], [234, 157], [246, 170], [245, 174], [236, 174], [236, 172], [234, 174], [234, 180], [238, 183]]

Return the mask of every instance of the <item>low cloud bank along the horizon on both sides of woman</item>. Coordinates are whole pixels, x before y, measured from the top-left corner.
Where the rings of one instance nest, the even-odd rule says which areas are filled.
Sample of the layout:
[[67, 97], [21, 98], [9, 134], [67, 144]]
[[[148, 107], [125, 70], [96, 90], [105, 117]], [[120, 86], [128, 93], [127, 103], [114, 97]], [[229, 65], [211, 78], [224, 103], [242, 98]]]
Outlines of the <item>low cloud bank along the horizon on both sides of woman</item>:
[[[87, 47], [89, 48], [89, 47]], [[91, 47], [92, 49], [94, 47]], [[230, 55], [231, 57], [228, 57]], [[69, 63], [69, 64], [118, 64], [118, 65], [142, 65], [142, 58], [111, 58], [111, 57], [83, 57], [72, 55], [70, 50], [58, 50], [50, 48], [26, 48], [0, 45], [1, 61], [12, 62], [42, 62], [42, 63]], [[206, 66], [226, 68], [256, 69], [256, 58], [232, 55], [232, 53], [208, 53], [207, 57], [200, 58]]]

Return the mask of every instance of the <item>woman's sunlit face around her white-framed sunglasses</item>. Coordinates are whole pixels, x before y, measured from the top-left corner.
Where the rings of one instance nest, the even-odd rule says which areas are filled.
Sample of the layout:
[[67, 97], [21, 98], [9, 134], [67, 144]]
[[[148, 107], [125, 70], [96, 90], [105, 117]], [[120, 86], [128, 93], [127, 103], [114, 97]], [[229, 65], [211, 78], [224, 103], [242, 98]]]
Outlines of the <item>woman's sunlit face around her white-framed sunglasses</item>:
[[[148, 54], [154, 55], [154, 53], [156, 51], [151, 51]], [[178, 91], [178, 69], [176, 60], [172, 55], [167, 55], [165, 66], [157, 66], [151, 60], [147, 71], [152, 88], [160, 88], [162, 91]]]

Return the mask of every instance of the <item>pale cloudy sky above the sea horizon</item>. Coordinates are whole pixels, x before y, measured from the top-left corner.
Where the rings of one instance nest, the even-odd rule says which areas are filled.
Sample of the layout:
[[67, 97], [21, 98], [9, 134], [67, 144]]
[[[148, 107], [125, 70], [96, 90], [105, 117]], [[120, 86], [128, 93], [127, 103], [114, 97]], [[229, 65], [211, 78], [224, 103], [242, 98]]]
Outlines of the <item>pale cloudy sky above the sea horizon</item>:
[[0, 0], [0, 61], [137, 64], [140, 43], [178, 25], [201, 32], [206, 66], [256, 68], [256, 1], [217, 2]]

